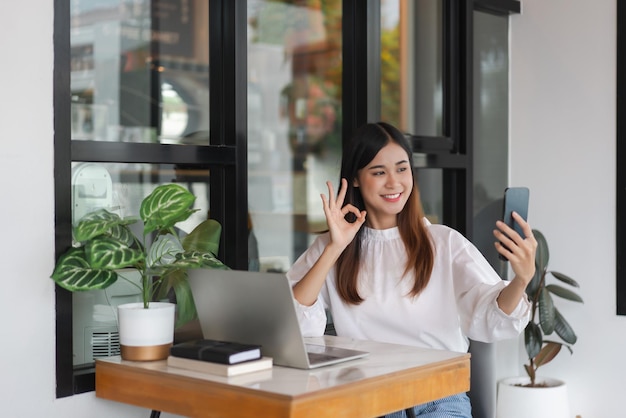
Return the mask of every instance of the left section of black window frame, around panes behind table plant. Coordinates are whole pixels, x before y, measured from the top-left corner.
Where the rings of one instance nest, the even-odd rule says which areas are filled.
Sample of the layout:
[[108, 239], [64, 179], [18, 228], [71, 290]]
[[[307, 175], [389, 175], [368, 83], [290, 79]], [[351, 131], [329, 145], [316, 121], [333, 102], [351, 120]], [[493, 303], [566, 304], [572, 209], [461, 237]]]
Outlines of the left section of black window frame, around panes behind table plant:
[[[71, 163], [132, 162], [210, 167], [211, 217], [222, 224], [220, 258], [234, 269], [247, 268], [247, 85], [246, 2], [209, 3], [210, 144], [167, 145], [71, 140], [70, 2], [55, 0], [54, 141], [55, 255], [71, 245]], [[241, 250], [243, 249], [243, 250]], [[72, 294], [60, 287], [56, 298], [57, 398], [95, 389], [93, 367], [72, 363]]]

